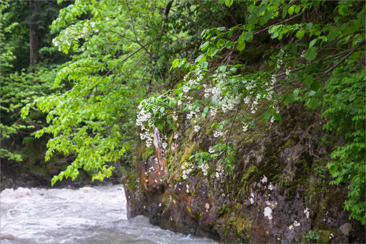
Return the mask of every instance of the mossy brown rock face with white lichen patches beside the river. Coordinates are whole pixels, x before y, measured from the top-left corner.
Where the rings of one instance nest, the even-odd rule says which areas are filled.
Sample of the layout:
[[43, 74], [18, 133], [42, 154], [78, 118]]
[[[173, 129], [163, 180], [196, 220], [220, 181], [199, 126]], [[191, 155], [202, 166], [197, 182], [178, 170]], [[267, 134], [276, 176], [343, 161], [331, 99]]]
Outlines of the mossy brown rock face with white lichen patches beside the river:
[[124, 181], [128, 218], [146, 215], [163, 229], [221, 243], [365, 243], [365, 227], [344, 211], [347, 185], [329, 185], [325, 166], [340, 138], [325, 134], [324, 121], [302, 104], [281, 115], [282, 122], [234, 130], [236, 167], [219, 178], [214, 162], [207, 176], [194, 169], [186, 180], [181, 166], [225, 134], [193, 139], [183, 122], [164, 151], [155, 130], [155, 150], [143, 148], [139, 172]]

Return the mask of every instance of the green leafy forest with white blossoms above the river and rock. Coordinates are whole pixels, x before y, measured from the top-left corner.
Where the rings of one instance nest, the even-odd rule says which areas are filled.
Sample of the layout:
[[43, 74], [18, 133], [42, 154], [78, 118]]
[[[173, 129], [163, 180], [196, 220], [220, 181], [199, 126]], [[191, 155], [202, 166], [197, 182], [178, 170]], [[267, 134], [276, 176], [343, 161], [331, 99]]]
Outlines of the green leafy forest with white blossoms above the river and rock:
[[300, 103], [365, 225], [364, 1], [1, 1], [0, 25], [2, 188], [133, 174], [141, 139], [169, 148], [181, 125], [223, 137], [184, 165], [220, 177], [233, 127]]

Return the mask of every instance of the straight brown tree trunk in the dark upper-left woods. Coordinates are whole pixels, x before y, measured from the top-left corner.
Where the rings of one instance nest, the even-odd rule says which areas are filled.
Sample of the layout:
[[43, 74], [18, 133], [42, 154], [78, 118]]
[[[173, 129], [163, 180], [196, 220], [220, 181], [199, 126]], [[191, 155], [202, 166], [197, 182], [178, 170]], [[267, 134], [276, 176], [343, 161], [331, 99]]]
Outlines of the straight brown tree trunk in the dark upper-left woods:
[[29, 66], [34, 66], [38, 63], [38, 26], [35, 19], [37, 13], [37, 5], [35, 1], [29, 1], [29, 8], [32, 15], [31, 23], [29, 26], [29, 42], [30, 42], [30, 64]]

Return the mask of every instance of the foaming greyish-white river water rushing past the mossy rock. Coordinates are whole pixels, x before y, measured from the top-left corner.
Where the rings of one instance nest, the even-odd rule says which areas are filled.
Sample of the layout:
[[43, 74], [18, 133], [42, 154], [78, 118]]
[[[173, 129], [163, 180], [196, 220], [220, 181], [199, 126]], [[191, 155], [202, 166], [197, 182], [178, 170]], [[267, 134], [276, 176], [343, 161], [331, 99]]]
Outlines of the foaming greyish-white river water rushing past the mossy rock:
[[127, 220], [123, 185], [18, 188], [0, 194], [0, 243], [216, 243]]

